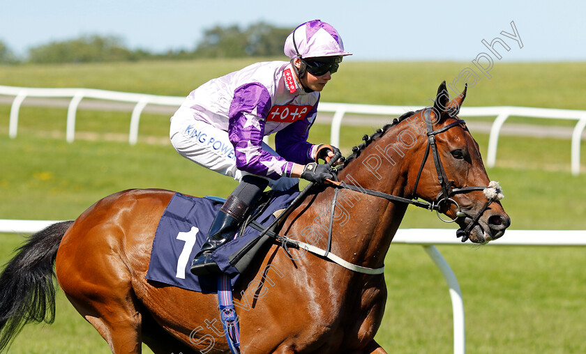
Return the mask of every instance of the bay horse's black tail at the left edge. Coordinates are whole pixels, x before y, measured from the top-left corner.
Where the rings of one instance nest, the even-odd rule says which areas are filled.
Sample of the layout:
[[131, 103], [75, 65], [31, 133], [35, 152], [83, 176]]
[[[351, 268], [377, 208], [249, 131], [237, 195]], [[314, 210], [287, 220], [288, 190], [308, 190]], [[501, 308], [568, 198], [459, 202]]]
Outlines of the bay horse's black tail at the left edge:
[[73, 221], [58, 222], [29, 237], [0, 275], [0, 352], [29, 322], [55, 319], [53, 265]]

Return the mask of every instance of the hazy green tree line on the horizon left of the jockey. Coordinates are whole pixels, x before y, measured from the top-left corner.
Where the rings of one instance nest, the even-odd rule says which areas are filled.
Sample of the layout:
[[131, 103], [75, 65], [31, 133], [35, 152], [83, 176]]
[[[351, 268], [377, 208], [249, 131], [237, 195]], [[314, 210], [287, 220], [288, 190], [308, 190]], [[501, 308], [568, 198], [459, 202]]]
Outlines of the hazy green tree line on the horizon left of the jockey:
[[283, 43], [292, 29], [257, 22], [246, 28], [237, 25], [213, 26], [204, 31], [193, 49], [173, 49], [165, 53], [129, 49], [119, 36], [85, 35], [31, 47], [19, 58], [0, 40], [0, 63], [93, 63], [155, 59], [240, 58], [281, 56]]

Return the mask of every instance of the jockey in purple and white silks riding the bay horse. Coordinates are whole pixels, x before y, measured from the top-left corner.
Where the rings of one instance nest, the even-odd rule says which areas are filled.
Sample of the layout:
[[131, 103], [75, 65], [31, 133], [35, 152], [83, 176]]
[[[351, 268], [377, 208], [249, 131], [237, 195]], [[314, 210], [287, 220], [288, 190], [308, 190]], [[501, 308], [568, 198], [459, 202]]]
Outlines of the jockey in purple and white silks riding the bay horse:
[[[171, 118], [170, 139], [183, 157], [239, 180], [211, 224], [195, 256], [195, 275], [219, 273], [211, 253], [234, 237], [267, 185], [288, 190], [299, 177], [331, 178], [327, 164], [338, 148], [310, 144], [320, 91], [338, 70], [342, 38], [331, 25], [313, 20], [285, 40], [287, 61], [255, 63], [212, 79], [192, 91]], [[275, 150], [262, 141], [276, 133]]]

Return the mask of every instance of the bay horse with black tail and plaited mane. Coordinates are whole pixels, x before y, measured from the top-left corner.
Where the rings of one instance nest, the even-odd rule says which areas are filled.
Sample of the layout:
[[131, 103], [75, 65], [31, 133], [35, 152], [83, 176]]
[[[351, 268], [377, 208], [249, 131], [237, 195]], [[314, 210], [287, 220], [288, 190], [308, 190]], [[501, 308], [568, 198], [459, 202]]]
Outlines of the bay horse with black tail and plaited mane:
[[[509, 216], [483, 193], [490, 181], [479, 146], [456, 116], [464, 98], [465, 90], [450, 101], [444, 82], [433, 107], [396, 118], [353, 149], [338, 180], [361, 192], [339, 190], [332, 254], [381, 268], [408, 206], [402, 200], [421, 199], [456, 219], [473, 243], [503, 235]], [[336, 190], [314, 188], [280, 233], [327, 247], [322, 224]], [[0, 277], [0, 350], [24, 324], [54, 318], [54, 267], [68, 300], [112, 353], [141, 353], [142, 342], [155, 353], [229, 353], [215, 294], [145, 279], [158, 220], [173, 194], [118, 192], [77, 220], [31, 236]], [[374, 340], [386, 302], [382, 274], [274, 244], [236, 283], [234, 302], [242, 353], [386, 353]]]

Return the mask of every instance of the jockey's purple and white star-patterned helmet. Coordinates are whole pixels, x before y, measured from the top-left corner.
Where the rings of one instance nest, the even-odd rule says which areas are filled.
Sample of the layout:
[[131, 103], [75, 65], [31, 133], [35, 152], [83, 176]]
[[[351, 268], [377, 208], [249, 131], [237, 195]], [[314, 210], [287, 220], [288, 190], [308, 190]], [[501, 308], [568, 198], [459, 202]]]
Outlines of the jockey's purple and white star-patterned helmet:
[[345, 52], [338, 31], [320, 20], [306, 22], [294, 29], [285, 40], [283, 52], [291, 59], [352, 55]]

